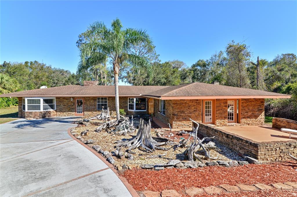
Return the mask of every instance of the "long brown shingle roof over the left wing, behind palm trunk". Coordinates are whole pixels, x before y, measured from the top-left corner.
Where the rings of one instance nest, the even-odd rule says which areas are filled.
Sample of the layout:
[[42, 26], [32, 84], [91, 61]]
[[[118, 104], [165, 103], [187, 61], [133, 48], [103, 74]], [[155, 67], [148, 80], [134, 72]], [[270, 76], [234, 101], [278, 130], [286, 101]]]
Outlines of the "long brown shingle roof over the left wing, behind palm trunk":
[[[156, 91], [168, 86], [132, 86], [119, 85], [119, 96], [139, 96], [152, 91]], [[2, 94], [0, 97], [7, 96], [114, 96], [115, 90], [112, 85], [97, 85], [97, 86], [83, 86], [83, 85], [65, 85], [52, 88], [26, 90], [20, 92], [13, 92]]]

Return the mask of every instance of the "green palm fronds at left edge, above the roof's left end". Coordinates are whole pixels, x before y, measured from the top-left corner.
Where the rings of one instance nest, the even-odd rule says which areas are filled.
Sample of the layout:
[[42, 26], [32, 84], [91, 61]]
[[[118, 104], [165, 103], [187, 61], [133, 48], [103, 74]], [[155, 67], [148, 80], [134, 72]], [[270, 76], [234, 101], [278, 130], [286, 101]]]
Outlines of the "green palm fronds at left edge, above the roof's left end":
[[0, 73], [0, 94], [16, 91], [20, 87], [18, 81], [9, 75]]

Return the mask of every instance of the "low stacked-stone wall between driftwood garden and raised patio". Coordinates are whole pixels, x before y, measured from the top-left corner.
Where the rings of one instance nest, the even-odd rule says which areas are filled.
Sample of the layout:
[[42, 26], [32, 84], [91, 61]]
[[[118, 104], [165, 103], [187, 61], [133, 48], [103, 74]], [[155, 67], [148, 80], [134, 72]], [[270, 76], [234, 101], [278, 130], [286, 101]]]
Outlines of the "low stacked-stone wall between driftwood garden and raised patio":
[[251, 156], [260, 161], [290, 160], [288, 152], [297, 156], [297, 141], [256, 142], [216, 127], [200, 124], [198, 132], [233, 151]]

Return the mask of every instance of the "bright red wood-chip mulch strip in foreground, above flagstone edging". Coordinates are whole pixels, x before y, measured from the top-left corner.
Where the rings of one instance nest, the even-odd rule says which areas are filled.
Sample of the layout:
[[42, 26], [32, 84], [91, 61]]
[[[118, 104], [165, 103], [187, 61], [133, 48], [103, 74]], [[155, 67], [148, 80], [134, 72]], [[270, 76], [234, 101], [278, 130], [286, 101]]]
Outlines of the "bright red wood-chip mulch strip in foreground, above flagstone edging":
[[[137, 191], [175, 189], [184, 193], [184, 190], [191, 186], [202, 188], [221, 184], [236, 185], [237, 183], [244, 183], [252, 185], [255, 183], [297, 182], [297, 162], [249, 164], [231, 168], [209, 166], [195, 169], [172, 168], [160, 171], [132, 169], [126, 170], [122, 176]], [[259, 192], [258, 196], [261, 196], [262, 194]], [[226, 195], [235, 196], [236, 193], [226, 193]], [[257, 196], [257, 192], [253, 193], [253, 195]], [[265, 195], [263, 194], [263, 196]], [[250, 196], [249, 193], [247, 193], [247, 196]]]

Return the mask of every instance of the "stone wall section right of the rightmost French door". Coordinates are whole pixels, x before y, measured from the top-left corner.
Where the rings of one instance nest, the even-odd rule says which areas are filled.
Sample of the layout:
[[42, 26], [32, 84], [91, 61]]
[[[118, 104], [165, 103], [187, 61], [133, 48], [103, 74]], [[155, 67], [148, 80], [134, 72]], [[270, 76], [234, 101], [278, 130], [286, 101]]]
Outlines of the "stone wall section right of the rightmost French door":
[[263, 125], [265, 99], [241, 99], [241, 125]]

